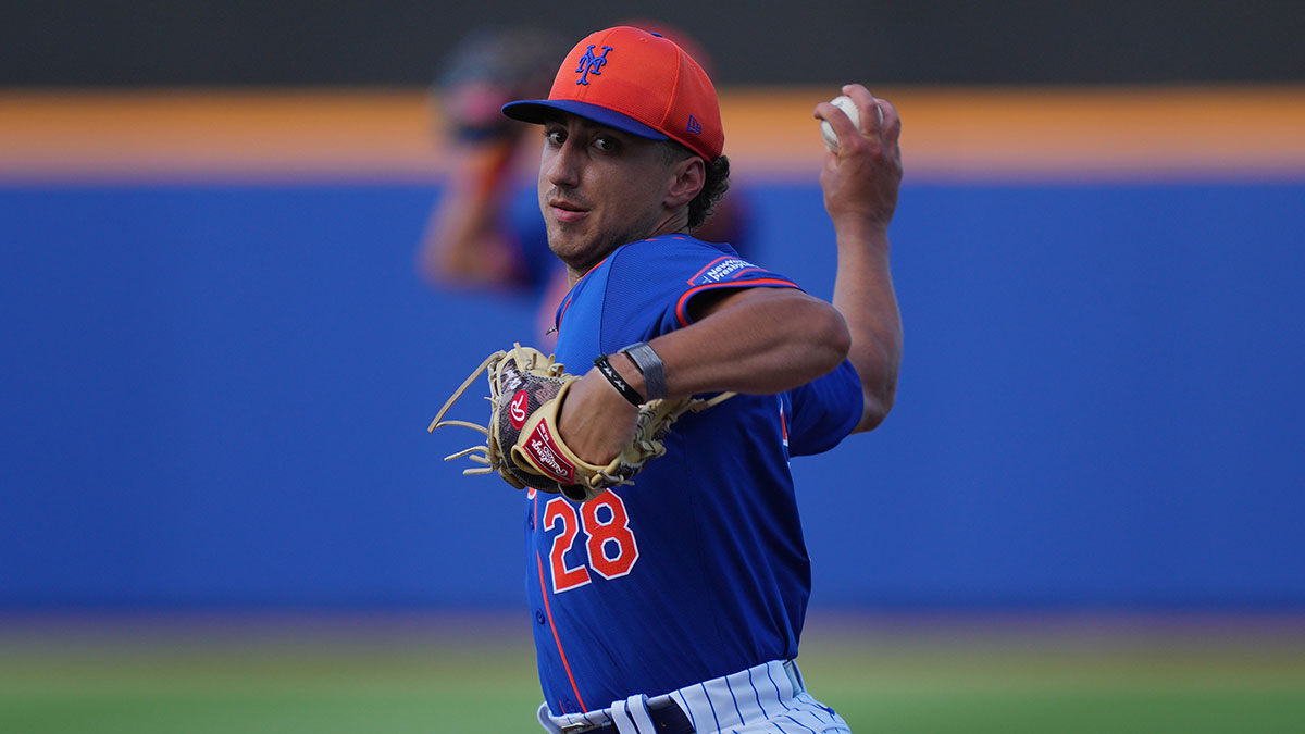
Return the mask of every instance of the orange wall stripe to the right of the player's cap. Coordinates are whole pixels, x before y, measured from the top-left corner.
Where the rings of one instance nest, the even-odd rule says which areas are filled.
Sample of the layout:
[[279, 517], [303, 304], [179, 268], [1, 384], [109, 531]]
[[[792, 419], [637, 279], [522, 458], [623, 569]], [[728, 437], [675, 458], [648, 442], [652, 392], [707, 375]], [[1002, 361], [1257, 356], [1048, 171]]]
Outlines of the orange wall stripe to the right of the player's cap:
[[[872, 91], [902, 115], [908, 178], [1305, 174], [1305, 86]], [[727, 149], [774, 146], [766, 166], [812, 168], [812, 99], [732, 95]]]

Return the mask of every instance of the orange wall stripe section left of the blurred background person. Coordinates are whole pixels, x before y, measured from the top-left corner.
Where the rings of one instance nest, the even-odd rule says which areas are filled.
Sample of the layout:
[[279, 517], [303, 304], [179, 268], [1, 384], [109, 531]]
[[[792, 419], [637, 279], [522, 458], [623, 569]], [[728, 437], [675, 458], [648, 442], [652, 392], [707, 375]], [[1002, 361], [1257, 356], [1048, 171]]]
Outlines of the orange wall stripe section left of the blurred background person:
[[411, 91], [0, 94], [0, 175], [433, 178]]

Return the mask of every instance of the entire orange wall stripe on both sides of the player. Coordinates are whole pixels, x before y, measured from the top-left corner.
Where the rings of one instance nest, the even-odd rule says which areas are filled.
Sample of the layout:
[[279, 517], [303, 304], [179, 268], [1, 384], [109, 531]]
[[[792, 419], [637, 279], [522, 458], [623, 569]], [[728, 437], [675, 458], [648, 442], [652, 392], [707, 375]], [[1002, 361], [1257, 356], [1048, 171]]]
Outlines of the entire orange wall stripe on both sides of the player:
[[[908, 179], [1305, 174], [1305, 86], [874, 91], [902, 112]], [[837, 93], [722, 90], [735, 170], [814, 180], [810, 111]], [[0, 90], [0, 178], [435, 182], [438, 125], [422, 90]]]

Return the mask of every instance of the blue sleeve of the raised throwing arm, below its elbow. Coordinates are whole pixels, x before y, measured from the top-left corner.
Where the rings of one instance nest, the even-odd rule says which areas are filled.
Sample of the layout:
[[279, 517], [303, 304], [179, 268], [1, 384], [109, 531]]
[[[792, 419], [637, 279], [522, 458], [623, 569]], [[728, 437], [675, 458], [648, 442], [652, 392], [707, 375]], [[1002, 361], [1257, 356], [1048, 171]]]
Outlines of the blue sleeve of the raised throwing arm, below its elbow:
[[856, 428], [865, 410], [861, 379], [846, 359], [829, 375], [793, 388], [788, 397], [792, 404], [790, 456], [810, 456], [834, 448]]

